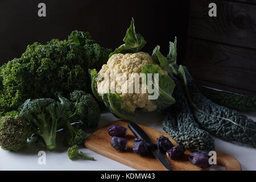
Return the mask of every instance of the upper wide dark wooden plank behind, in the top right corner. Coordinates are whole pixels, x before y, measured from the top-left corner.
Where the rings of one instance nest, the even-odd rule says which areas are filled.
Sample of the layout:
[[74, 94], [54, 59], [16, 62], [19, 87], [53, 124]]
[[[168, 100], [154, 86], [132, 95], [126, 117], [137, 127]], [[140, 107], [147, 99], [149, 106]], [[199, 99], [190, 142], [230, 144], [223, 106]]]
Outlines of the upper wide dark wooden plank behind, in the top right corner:
[[[217, 5], [217, 17], [208, 15], [208, 5], [212, 2]], [[188, 29], [193, 38], [256, 49], [256, 5], [191, 0]]]

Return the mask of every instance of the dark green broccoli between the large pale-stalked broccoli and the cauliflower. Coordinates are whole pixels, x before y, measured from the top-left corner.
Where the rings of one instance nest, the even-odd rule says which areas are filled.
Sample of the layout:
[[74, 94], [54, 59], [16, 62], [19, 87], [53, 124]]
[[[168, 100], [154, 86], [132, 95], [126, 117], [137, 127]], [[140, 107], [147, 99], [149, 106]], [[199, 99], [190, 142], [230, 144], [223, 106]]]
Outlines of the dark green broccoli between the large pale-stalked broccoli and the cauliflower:
[[[85, 138], [84, 126], [96, 126], [100, 120], [100, 109], [92, 95], [83, 91], [71, 93], [71, 101], [59, 96], [57, 102], [60, 113], [61, 125], [67, 130], [64, 145], [71, 147], [75, 144], [82, 144]], [[81, 122], [80, 127], [74, 127], [72, 123]]]

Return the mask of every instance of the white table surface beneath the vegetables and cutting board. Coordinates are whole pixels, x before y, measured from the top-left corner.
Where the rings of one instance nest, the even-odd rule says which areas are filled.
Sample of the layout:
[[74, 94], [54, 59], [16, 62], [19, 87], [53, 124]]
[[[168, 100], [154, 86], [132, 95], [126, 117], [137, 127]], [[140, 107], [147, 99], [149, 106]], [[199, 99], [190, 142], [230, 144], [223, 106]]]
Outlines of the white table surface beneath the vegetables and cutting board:
[[[255, 113], [244, 113], [249, 118], [256, 121]], [[162, 130], [161, 126], [162, 115], [154, 113], [143, 113], [135, 118], [135, 122], [141, 123], [152, 128]], [[99, 127], [108, 125], [115, 121], [110, 113], [104, 113], [101, 117]], [[95, 129], [94, 129], [95, 130]], [[162, 130], [163, 131], [163, 130]], [[90, 131], [90, 133], [92, 133]], [[256, 170], [256, 148], [241, 146], [223, 140], [214, 138], [216, 150], [226, 152], [239, 160], [243, 170]], [[0, 149], [0, 170], [135, 170], [121, 163], [115, 162], [112, 159], [99, 155], [96, 152], [90, 151], [86, 148], [81, 148], [81, 151], [89, 156], [93, 156], [96, 161], [90, 160], [69, 160], [66, 151], [67, 148], [59, 147], [56, 151], [46, 151], [43, 146], [36, 144], [22, 152], [14, 153]], [[38, 156], [39, 151], [46, 151], [46, 165], [39, 165]]]

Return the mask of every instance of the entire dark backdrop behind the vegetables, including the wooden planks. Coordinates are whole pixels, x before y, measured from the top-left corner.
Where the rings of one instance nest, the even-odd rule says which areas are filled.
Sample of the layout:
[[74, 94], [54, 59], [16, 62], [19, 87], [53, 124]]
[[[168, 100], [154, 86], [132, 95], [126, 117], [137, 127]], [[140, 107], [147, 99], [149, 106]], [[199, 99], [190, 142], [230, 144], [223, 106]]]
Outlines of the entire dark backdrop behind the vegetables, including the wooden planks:
[[[47, 17], [38, 16], [46, 3]], [[217, 17], [209, 17], [209, 3]], [[121, 45], [131, 18], [151, 53], [177, 36], [177, 60], [200, 85], [256, 95], [256, 0], [1, 0], [0, 65], [28, 44], [88, 31], [101, 46]]]

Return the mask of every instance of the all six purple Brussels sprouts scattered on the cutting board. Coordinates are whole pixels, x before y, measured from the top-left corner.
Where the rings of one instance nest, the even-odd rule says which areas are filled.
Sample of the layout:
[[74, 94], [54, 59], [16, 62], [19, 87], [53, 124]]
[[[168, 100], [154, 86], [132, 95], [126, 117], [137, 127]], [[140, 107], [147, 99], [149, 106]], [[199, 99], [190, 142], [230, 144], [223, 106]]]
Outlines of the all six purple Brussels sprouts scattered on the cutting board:
[[[128, 148], [128, 140], [125, 139], [127, 136], [126, 127], [119, 125], [112, 125], [108, 127], [108, 133], [112, 137], [110, 140], [111, 146], [118, 151], [126, 151]], [[161, 135], [157, 140], [156, 144], [149, 144], [141, 138], [134, 139], [133, 152], [140, 156], [146, 156], [152, 151], [151, 147], [158, 148], [163, 154], [166, 154], [168, 158], [172, 160], [179, 160], [184, 158], [185, 147], [174, 146], [169, 138]], [[188, 160], [200, 168], [209, 168], [209, 155], [205, 151], [196, 150], [189, 155]]]

